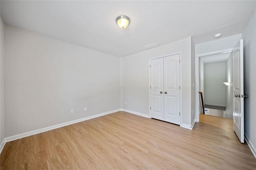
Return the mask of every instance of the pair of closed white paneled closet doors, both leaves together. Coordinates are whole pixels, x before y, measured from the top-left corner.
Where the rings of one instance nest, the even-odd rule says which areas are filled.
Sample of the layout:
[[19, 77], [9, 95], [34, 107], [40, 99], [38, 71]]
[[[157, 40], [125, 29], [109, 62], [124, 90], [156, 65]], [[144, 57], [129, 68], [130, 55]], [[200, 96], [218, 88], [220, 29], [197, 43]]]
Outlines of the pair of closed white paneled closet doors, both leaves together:
[[180, 54], [150, 61], [150, 117], [180, 125]]

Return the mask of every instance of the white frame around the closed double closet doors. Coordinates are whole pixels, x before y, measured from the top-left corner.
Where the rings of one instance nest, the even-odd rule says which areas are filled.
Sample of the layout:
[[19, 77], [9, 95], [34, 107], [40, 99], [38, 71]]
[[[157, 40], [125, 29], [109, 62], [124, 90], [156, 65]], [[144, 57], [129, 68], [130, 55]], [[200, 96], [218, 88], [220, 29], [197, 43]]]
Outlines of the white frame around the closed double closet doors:
[[163, 58], [163, 57], [168, 57], [170, 55], [176, 55], [176, 54], [180, 54], [180, 127], [182, 127], [182, 51], [178, 51], [178, 52], [175, 52], [175, 53], [170, 53], [170, 54], [165, 54], [165, 55], [160, 55], [160, 56], [157, 56], [157, 57], [151, 57], [148, 59], [148, 110], [149, 110], [149, 117], [151, 117], [150, 115], [150, 105], [151, 105], [151, 91], [150, 91], [150, 81], [151, 81], [151, 77], [150, 77], [150, 60], [152, 59], [158, 59], [158, 58]]

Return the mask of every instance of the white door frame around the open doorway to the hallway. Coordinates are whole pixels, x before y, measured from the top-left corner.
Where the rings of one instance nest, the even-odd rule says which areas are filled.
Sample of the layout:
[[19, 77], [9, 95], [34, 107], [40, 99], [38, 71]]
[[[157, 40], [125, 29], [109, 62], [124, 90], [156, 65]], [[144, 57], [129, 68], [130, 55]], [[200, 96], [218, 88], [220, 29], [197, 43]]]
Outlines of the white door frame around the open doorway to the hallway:
[[215, 54], [220, 54], [220, 53], [229, 53], [234, 51], [234, 48], [228, 48], [228, 49], [222, 49], [219, 51], [212, 51], [208, 53], [202, 53], [202, 54], [197, 54], [195, 55], [195, 78], [196, 78], [196, 91], [195, 91], [195, 100], [196, 100], [196, 108], [195, 108], [195, 116], [196, 116], [196, 122], [199, 122], [199, 57], [205, 57], [209, 55], [215, 55]]

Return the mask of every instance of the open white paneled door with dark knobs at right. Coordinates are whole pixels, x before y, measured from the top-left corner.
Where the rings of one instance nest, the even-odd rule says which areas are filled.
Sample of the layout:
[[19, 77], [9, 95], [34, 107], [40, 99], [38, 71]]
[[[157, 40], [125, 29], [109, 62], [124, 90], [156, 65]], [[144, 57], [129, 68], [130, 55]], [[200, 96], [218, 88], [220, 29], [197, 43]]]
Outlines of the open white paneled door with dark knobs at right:
[[244, 143], [244, 55], [243, 40], [234, 51], [233, 127], [240, 142]]

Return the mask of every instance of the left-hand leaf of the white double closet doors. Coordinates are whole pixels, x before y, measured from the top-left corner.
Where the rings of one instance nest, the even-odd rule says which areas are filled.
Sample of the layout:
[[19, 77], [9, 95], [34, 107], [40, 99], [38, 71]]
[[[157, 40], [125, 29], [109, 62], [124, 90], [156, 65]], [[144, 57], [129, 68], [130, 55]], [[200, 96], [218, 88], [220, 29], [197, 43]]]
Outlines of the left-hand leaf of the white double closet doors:
[[164, 59], [150, 61], [150, 117], [164, 121]]

